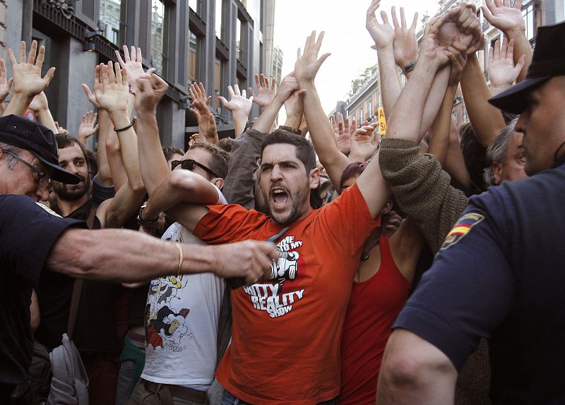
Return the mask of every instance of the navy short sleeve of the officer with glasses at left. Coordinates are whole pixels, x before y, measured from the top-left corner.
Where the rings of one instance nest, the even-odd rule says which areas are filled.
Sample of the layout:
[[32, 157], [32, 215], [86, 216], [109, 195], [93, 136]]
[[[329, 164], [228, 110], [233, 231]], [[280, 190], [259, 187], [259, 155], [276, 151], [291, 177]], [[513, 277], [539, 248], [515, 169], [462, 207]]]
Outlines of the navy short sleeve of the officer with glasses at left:
[[[36, 285], [51, 247], [65, 229], [85, 222], [59, 217], [25, 195], [0, 195], [2, 271]], [[9, 269], [9, 270], [8, 270]]]

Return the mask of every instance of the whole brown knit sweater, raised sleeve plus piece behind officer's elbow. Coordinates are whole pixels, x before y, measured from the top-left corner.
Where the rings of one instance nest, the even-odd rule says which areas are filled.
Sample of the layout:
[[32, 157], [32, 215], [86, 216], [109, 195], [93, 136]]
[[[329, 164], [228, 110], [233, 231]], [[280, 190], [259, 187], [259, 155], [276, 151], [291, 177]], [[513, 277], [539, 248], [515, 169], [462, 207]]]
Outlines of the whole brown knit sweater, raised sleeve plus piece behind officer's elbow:
[[[467, 207], [467, 197], [450, 185], [451, 177], [434, 155], [420, 154], [414, 140], [383, 138], [379, 164], [398, 205], [417, 221], [429, 247], [437, 253]], [[488, 344], [481, 339], [479, 349], [459, 370], [455, 404], [490, 404], [489, 382]]]

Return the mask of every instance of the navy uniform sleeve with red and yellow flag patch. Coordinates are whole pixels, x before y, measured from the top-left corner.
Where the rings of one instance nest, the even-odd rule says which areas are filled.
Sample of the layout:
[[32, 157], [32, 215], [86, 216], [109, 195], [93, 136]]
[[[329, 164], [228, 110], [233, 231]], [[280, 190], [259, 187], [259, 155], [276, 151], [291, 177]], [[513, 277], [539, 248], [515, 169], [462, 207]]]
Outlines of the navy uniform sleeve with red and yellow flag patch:
[[470, 201], [393, 325], [429, 341], [456, 368], [512, 305], [509, 200], [496, 190]]

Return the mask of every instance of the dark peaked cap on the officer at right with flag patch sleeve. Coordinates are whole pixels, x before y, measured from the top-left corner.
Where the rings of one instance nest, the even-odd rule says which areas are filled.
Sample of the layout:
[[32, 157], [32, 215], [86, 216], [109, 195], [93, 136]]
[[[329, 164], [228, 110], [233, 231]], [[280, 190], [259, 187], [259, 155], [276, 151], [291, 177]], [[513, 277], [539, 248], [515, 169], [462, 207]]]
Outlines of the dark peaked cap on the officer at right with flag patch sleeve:
[[537, 29], [537, 38], [525, 79], [509, 90], [489, 99], [490, 104], [512, 114], [521, 114], [528, 107], [524, 97], [535, 87], [554, 76], [565, 75], [565, 23]]

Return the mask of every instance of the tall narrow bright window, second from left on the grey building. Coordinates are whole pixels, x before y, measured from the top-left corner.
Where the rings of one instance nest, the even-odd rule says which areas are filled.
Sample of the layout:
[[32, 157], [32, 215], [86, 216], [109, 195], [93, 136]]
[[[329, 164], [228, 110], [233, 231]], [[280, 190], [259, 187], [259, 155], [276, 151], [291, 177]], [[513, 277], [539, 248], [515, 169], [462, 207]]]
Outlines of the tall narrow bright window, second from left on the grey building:
[[168, 10], [160, 0], [153, 0], [151, 6], [151, 67], [167, 77], [169, 62], [169, 24]]

